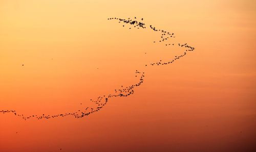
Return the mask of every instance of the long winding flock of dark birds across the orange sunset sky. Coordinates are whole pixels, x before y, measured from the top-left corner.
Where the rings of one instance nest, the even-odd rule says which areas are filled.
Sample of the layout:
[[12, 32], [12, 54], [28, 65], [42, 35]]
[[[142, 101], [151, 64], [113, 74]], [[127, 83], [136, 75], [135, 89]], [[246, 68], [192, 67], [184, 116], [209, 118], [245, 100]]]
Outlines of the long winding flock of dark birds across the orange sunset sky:
[[[119, 23], [123, 23], [123, 27], [124, 24], [127, 24], [127, 26], [130, 26], [129, 29], [131, 28], [136, 28], [136, 29], [146, 29], [146, 25], [145, 23], [143, 23], [143, 18], [137, 20], [136, 17], [134, 17], [134, 19], [131, 18], [127, 18], [127, 19], [121, 19], [121, 18], [108, 18], [108, 20], [118, 20]], [[165, 43], [166, 46], [170, 45], [170, 46], [179, 46], [179, 47], [183, 47], [184, 48], [184, 53], [179, 55], [179, 56], [175, 56], [175, 58], [170, 59], [168, 61], [158, 61], [158, 62], [154, 62], [154, 63], [150, 63], [150, 64], [146, 64], [145, 67], [148, 66], [153, 66], [153, 65], [166, 65], [166, 64], [170, 64], [173, 63], [174, 61], [177, 61], [178, 59], [184, 57], [185, 55], [187, 55], [187, 52], [191, 52], [193, 51], [195, 48], [189, 46], [187, 43], [184, 44], [180, 44], [180, 43], [167, 43], [169, 38], [175, 38], [174, 33], [170, 33], [164, 30], [160, 30], [160, 29], [156, 29], [155, 27], [153, 27], [152, 25], [149, 26], [150, 29], [152, 29], [155, 32], [159, 32], [161, 34], [161, 38], [159, 41], [157, 42], [161, 42], [161, 43]], [[156, 41], [154, 41], [153, 43], [156, 43]], [[24, 66], [24, 65], [23, 65]], [[131, 86], [121, 86], [119, 89], [115, 89], [115, 92], [112, 94], [108, 94], [108, 95], [101, 95], [96, 99], [91, 99], [91, 102], [95, 103], [95, 107], [86, 107], [83, 108], [83, 110], [78, 110], [76, 112], [69, 112], [69, 113], [62, 113], [62, 114], [57, 114], [57, 115], [46, 115], [46, 114], [41, 114], [41, 115], [30, 115], [30, 116], [26, 116], [23, 114], [18, 114], [15, 110], [1, 110], [0, 113], [13, 113], [15, 116], [21, 117], [24, 120], [30, 119], [30, 118], [36, 118], [36, 119], [50, 119], [50, 118], [56, 118], [56, 117], [65, 117], [65, 116], [74, 116], [75, 118], [83, 118], [86, 117], [90, 114], [93, 114], [95, 112], [100, 111], [108, 102], [109, 99], [112, 97], [127, 97], [129, 95], [132, 95], [135, 92], [135, 88], [137, 88], [138, 86], [140, 86], [143, 81], [144, 81], [144, 72], [140, 72], [138, 70], [136, 70], [136, 77], [137, 75], [139, 75], [139, 82], [137, 82], [136, 84], [133, 84]]]

